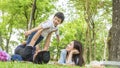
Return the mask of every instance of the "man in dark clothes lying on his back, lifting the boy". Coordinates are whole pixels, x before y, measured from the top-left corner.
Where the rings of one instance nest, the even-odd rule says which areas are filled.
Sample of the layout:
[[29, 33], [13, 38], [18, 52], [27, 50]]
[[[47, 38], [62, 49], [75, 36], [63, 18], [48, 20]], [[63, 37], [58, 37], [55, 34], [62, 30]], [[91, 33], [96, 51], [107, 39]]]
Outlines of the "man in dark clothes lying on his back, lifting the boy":
[[[21, 45], [16, 47], [15, 55], [19, 55], [19, 58], [22, 57], [23, 61], [31, 61], [37, 64], [48, 63], [50, 60], [50, 52], [48, 51], [48, 48], [51, 34], [52, 32], [48, 34], [43, 50], [40, 50], [38, 46], [36, 46], [34, 50], [34, 41], [30, 41], [31, 45], [28, 44], [29, 46], [26, 44], [26, 42], [23, 42]], [[12, 59], [14, 59], [14, 56]]]

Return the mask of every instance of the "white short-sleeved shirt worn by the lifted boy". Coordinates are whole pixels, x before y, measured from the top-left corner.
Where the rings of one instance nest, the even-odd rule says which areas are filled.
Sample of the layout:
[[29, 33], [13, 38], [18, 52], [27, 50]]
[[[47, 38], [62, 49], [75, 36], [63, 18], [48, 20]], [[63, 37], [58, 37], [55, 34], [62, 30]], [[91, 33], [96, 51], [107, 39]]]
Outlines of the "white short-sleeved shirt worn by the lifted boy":
[[54, 30], [57, 30], [55, 31], [55, 34], [59, 35], [58, 27], [54, 26], [53, 21], [46, 21], [46, 22], [40, 23], [40, 26], [44, 29], [41, 33], [43, 37], [46, 37], [51, 31], [54, 31]]

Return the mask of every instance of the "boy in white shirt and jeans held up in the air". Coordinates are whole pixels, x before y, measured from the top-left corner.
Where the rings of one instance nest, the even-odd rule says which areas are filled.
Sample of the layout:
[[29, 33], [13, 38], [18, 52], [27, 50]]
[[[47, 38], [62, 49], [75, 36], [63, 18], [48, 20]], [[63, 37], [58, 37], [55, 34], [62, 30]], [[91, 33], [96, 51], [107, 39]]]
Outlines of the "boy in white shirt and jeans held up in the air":
[[[59, 31], [58, 31], [58, 25], [61, 24], [64, 21], [64, 14], [62, 12], [57, 12], [53, 20], [46, 21], [41, 23], [38, 27], [33, 28], [29, 31], [25, 32], [25, 35], [28, 36], [27, 39], [27, 46], [33, 47], [36, 46], [41, 40], [43, 40], [44, 37], [49, 35], [50, 32], [55, 32], [57, 39], [59, 41]], [[33, 41], [30, 43], [30, 41]], [[46, 50], [48, 47], [45, 47], [44, 50]]]

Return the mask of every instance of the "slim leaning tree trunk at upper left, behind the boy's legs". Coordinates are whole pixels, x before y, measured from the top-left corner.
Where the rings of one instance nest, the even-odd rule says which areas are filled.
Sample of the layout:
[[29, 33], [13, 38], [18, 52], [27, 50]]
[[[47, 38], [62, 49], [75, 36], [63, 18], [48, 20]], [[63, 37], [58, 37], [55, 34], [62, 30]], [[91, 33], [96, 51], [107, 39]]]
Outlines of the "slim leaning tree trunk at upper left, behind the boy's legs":
[[28, 30], [32, 28], [32, 20], [34, 19], [35, 10], [36, 10], [36, 0], [34, 0], [34, 2], [33, 2], [32, 12], [30, 14], [30, 20], [29, 20], [29, 24], [28, 24]]

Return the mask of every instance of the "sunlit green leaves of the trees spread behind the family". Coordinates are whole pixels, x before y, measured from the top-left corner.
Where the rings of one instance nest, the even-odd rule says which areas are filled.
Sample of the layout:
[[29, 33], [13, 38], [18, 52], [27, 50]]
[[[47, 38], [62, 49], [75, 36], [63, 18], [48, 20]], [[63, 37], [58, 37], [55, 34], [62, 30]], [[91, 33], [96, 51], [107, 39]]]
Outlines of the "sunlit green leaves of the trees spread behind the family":
[[[35, 26], [45, 21], [54, 12], [53, 9], [62, 10], [53, 5], [55, 1], [57, 0], [37, 0], [34, 16]], [[0, 11], [2, 12], [0, 37], [2, 40], [10, 39], [10, 33], [16, 33], [14, 29], [19, 32], [19, 40], [24, 40], [23, 31], [27, 30], [32, 5], [33, 0], [0, 1]], [[82, 42], [84, 49], [89, 51], [88, 48], [92, 47], [92, 50], [95, 50], [89, 51], [90, 53], [94, 52], [95, 60], [102, 60], [105, 47], [104, 39], [108, 36], [108, 27], [111, 26], [112, 22], [111, 0], [70, 0], [67, 6], [69, 11], [63, 11], [68, 13], [66, 18], [70, 18], [70, 20], [60, 26], [60, 43], [53, 37], [50, 46], [51, 56], [59, 55], [60, 49], [65, 48], [72, 40], [78, 40]], [[89, 26], [90, 28], [88, 28]], [[18, 44], [16, 41], [10, 40], [9, 42], [12, 46]], [[88, 56], [86, 53], [85, 55]]]

